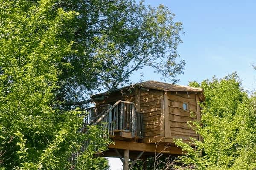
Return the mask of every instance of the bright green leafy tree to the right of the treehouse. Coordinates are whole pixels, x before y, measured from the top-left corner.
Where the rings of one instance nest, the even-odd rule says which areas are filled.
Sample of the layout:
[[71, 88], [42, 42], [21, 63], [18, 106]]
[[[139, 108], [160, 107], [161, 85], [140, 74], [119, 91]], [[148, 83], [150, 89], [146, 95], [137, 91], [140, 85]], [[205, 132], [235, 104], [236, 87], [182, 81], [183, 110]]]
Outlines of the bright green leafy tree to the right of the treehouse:
[[198, 170], [255, 170], [255, 96], [247, 96], [236, 73], [205, 80], [200, 87], [205, 102], [201, 104], [201, 126], [195, 125], [203, 141], [195, 141], [195, 149], [177, 140], [176, 144], [186, 151], [181, 162]]

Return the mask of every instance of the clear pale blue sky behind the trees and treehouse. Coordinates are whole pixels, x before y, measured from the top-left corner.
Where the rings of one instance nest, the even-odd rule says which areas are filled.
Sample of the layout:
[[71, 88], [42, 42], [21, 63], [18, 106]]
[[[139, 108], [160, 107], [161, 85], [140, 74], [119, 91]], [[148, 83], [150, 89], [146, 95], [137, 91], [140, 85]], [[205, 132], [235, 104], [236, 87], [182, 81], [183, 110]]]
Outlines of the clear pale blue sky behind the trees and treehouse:
[[[201, 82], [213, 75], [222, 78], [237, 71], [244, 89], [256, 89], [256, 1], [253, 0], [145, 0], [146, 5], [163, 4], [183, 23], [185, 35], [178, 51], [186, 60], [180, 85]], [[143, 80], [158, 80], [160, 75], [143, 69]], [[134, 74], [134, 82], [140, 80]], [[122, 169], [119, 159], [111, 159], [111, 170]]]

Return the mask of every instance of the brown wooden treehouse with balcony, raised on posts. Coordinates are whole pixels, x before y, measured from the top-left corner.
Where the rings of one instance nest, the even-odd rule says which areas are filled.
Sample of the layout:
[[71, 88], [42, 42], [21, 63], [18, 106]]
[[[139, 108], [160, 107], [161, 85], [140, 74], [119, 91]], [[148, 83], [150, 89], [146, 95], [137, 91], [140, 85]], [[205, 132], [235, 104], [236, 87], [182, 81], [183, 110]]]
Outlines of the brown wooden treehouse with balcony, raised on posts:
[[201, 88], [146, 81], [92, 99], [95, 107], [87, 109], [86, 123], [105, 128], [115, 144], [103, 155], [119, 157], [124, 170], [129, 168], [129, 158], [145, 159], [159, 152], [182, 154], [173, 139], [201, 140], [187, 123], [200, 121]]

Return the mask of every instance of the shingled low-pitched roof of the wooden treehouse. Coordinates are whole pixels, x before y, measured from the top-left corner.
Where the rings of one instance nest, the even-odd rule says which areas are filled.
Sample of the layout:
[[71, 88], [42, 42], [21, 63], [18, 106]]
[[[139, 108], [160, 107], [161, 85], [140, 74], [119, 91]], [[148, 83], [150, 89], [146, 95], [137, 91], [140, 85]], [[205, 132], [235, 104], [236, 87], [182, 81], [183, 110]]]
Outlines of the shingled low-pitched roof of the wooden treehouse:
[[202, 88], [194, 88], [190, 86], [185, 86], [185, 85], [175, 85], [171, 83], [166, 83], [166, 82], [157, 82], [153, 80], [149, 80], [146, 82], [140, 82], [136, 83], [134, 85], [129, 85], [123, 88], [116, 89], [114, 91], [106, 91], [104, 93], [100, 94], [95, 94], [92, 96], [92, 98], [98, 97], [98, 96], [106, 96], [109, 95], [115, 91], [120, 91], [122, 89], [127, 89], [127, 88], [135, 88], [135, 87], [140, 87], [140, 88], [148, 88], [148, 89], [155, 89], [159, 91], [182, 91], [182, 92], [202, 92]]

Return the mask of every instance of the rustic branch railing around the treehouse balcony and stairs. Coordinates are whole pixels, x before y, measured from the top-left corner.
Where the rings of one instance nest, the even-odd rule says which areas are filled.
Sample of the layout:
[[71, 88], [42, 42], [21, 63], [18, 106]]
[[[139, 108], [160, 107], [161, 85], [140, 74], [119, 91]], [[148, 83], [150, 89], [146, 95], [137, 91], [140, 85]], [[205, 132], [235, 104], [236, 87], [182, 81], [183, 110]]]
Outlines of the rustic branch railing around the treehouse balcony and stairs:
[[[97, 112], [99, 110], [102, 112]], [[133, 102], [119, 100], [114, 105], [88, 108], [86, 111], [86, 125], [100, 125], [109, 135], [114, 135], [115, 130], [127, 130], [132, 137], [143, 136], [143, 114], [136, 112]]]

